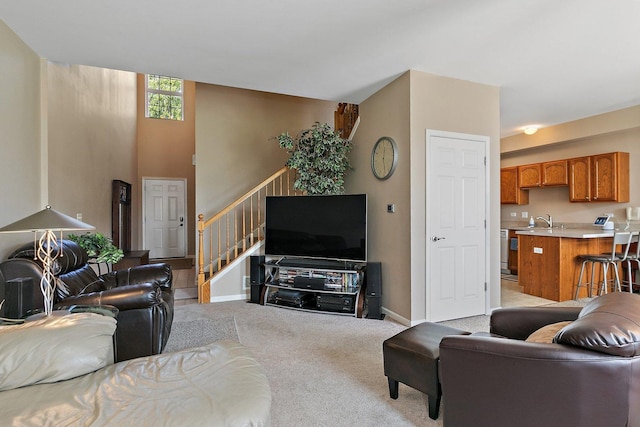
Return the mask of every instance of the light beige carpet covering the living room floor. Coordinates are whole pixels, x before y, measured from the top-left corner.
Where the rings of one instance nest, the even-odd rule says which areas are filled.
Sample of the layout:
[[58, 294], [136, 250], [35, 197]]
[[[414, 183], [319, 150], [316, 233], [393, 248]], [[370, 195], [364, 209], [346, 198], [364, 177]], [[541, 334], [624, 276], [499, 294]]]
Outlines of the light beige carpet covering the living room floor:
[[[427, 415], [422, 393], [400, 384], [399, 398], [389, 397], [382, 342], [405, 326], [239, 301], [175, 309], [176, 322], [230, 317], [240, 342], [251, 349], [269, 378], [274, 427], [442, 426], [446, 398], [434, 421]], [[471, 332], [488, 331], [489, 317], [446, 323]]]

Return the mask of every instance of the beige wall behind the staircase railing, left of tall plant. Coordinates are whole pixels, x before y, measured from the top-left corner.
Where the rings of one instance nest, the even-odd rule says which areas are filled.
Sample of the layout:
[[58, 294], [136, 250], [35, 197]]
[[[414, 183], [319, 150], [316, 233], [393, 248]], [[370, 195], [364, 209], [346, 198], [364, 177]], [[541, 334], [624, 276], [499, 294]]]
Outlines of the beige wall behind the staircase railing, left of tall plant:
[[[333, 124], [336, 108], [329, 101], [197, 83], [196, 216], [211, 217], [284, 166], [287, 154], [274, 136], [296, 135], [316, 121]], [[212, 299], [246, 294], [238, 277], [217, 280]]]

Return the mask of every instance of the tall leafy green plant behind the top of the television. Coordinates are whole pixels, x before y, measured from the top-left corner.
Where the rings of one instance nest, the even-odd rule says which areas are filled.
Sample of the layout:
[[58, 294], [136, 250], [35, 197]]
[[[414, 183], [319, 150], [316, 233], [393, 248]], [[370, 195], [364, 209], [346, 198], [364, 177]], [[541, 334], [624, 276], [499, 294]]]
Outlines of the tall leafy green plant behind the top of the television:
[[287, 150], [287, 166], [296, 170], [293, 187], [307, 194], [343, 194], [344, 175], [351, 164], [347, 155], [352, 142], [340, 137], [326, 123], [316, 122], [293, 138], [287, 132], [276, 137]]

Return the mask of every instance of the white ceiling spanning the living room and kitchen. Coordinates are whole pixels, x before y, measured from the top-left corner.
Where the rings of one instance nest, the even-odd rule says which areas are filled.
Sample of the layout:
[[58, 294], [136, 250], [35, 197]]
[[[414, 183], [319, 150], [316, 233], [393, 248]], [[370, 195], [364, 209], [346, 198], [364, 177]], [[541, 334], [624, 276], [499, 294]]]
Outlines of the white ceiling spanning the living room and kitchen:
[[640, 0], [0, 0], [51, 61], [360, 103], [409, 69], [501, 88], [502, 136], [640, 104]]

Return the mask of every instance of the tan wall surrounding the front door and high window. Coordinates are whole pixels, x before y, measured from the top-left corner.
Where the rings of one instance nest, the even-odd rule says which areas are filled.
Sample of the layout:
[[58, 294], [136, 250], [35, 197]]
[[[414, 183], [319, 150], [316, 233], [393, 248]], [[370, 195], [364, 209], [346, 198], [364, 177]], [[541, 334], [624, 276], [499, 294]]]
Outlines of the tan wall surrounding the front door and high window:
[[[145, 117], [144, 74], [139, 74], [138, 83], [138, 176], [133, 182], [140, 189], [137, 201], [142, 212], [142, 178], [186, 178], [187, 179], [187, 253], [195, 254], [196, 235], [196, 172], [192, 156], [196, 152], [196, 84], [184, 82], [184, 120], [161, 120]], [[142, 222], [138, 218], [137, 231], [142, 244]]]

